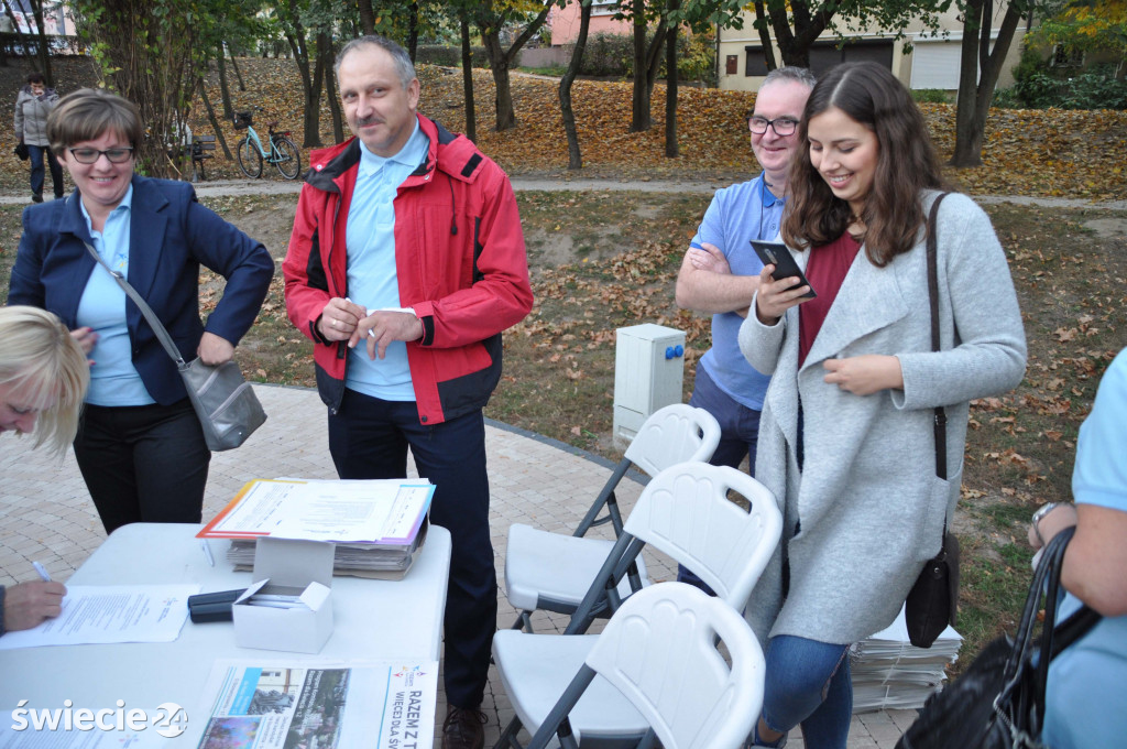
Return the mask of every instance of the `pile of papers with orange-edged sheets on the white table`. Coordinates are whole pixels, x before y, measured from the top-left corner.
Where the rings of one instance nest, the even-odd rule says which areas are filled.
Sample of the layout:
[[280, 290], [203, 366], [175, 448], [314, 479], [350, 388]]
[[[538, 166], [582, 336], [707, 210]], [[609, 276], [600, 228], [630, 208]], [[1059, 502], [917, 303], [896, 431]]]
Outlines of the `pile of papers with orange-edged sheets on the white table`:
[[434, 485], [426, 479], [256, 479], [207, 523], [199, 538], [230, 538], [237, 569], [255, 563], [256, 539], [336, 544], [334, 572], [396, 579], [426, 538]]

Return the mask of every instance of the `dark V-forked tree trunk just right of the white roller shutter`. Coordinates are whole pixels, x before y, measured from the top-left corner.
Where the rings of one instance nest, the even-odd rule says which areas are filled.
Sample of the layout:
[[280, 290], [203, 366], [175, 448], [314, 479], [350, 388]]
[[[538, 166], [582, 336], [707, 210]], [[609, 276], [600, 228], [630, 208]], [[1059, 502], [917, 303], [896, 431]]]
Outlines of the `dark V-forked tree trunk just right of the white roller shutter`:
[[994, 0], [965, 0], [962, 46], [959, 50], [959, 99], [955, 114], [955, 155], [951, 166], [975, 167], [983, 162], [986, 117], [1002, 63], [1010, 51], [1018, 23], [1029, 10], [1027, 0], [1006, 3], [997, 38], [991, 45]]

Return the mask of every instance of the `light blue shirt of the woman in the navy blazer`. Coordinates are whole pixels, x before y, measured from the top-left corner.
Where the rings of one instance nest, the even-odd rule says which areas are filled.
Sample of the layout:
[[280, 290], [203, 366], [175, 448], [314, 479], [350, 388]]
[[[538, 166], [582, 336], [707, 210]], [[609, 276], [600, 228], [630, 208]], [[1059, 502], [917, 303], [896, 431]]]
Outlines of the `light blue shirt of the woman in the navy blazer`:
[[[133, 213], [133, 185], [106, 218], [101, 231], [95, 231], [90, 214], [79, 201], [82, 218], [94, 239], [94, 248], [113, 270], [128, 279], [130, 219]], [[133, 344], [125, 323], [125, 292], [106, 270], [95, 266], [78, 302], [78, 324], [98, 334], [90, 352], [90, 389], [86, 402], [96, 406], [144, 406], [156, 403], [133, 367]]]

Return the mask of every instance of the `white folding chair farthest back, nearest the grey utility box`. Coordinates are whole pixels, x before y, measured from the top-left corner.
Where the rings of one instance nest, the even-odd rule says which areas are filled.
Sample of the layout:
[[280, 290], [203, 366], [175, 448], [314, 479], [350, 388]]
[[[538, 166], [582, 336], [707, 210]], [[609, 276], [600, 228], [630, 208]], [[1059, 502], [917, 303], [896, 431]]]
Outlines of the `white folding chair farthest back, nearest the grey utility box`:
[[[587, 538], [586, 532], [610, 522], [615, 538], [622, 535], [622, 514], [614, 490], [630, 466], [650, 476], [664, 468], [698, 460], [708, 462], [720, 442], [720, 425], [712, 414], [682, 403], [654, 412], [638, 430], [598, 497], [575, 531], [568, 536], [514, 523], [505, 552], [505, 594], [521, 611], [514, 628], [532, 632], [531, 613], [547, 609], [573, 614], [595, 579], [613, 540]], [[605, 510], [605, 514], [603, 513]], [[621, 582], [621, 596], [649, 584], [645, 563]]]

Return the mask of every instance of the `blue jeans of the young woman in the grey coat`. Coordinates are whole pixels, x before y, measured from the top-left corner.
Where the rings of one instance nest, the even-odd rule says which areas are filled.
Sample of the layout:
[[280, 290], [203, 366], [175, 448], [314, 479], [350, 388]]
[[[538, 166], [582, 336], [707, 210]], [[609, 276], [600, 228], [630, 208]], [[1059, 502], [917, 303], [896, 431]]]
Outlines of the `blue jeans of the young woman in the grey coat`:
[[767, 642], [763, 721], [788, 733], [802, 726], [809, 749], [845, 749], [853, 714], [849, 645], [778, 635]]

